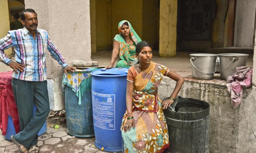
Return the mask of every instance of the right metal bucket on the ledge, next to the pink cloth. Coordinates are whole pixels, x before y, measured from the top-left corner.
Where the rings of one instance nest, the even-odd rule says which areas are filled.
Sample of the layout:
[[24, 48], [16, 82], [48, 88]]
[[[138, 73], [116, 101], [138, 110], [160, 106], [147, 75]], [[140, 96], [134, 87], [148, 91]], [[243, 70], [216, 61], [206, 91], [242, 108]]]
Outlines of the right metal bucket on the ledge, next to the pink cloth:
[[248, 54], [219, 54], [221, 79], [226, 80], [237, 67], [246, 66]]

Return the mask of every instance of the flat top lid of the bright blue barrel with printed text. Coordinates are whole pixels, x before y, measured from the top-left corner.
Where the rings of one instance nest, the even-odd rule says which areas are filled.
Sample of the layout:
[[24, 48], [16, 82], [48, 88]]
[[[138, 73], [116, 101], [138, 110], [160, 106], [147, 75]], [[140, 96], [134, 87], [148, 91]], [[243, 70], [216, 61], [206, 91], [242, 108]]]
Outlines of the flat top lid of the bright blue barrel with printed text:
[[111, 68], [107, 70], [96, 70], [91, 72], [91, 75], [99, 76], [99, 77], [121, 77], [126, 76], [129, 68]]

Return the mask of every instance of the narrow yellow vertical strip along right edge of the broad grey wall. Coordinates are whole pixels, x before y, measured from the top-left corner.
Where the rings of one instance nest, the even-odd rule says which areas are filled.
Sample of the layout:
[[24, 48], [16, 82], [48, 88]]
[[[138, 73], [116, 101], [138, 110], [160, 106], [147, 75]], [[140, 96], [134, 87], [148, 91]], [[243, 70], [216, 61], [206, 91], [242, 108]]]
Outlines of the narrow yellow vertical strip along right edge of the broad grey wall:
[[96, 2], [90, 0], [91, 53], [96, 53]]

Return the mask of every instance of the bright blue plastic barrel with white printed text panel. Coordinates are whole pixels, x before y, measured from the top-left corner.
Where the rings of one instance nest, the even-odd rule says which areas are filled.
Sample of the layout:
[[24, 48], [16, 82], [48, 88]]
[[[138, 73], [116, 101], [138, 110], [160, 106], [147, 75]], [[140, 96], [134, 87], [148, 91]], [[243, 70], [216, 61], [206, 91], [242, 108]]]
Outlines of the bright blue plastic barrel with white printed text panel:
[[91, 97], [95, 146], [107, 152], [122, 152], [120, 126], [126, 110], [128, 68], [91, 72]]

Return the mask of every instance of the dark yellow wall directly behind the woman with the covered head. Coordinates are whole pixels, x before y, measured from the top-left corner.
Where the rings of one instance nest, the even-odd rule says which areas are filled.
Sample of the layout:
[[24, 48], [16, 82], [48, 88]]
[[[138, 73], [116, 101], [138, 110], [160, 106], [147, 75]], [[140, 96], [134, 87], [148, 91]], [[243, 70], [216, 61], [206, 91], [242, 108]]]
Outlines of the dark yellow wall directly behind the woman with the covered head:
[[128, 20], [142, 38], [142, 0], [96, 0], [96, 50], [113, 49], [122, 20]]

